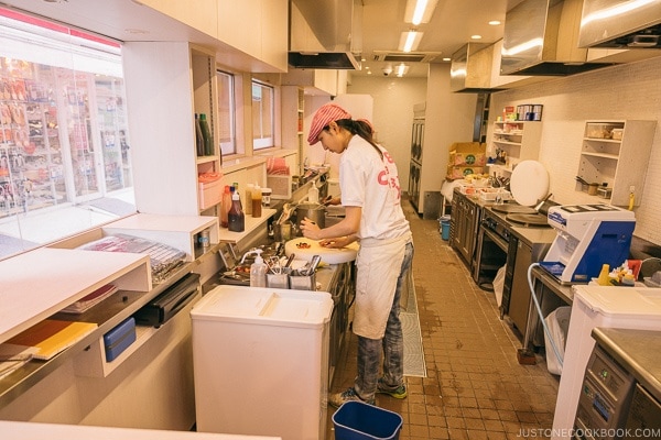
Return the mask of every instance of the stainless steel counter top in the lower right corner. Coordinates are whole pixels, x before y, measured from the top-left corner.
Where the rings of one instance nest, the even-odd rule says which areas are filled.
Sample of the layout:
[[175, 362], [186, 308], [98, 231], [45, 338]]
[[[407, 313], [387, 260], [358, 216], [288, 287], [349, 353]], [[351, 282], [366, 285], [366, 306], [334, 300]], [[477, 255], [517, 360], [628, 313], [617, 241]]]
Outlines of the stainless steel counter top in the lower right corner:
[[661, 331], [597, 327], [593, 338], [661, 400]]

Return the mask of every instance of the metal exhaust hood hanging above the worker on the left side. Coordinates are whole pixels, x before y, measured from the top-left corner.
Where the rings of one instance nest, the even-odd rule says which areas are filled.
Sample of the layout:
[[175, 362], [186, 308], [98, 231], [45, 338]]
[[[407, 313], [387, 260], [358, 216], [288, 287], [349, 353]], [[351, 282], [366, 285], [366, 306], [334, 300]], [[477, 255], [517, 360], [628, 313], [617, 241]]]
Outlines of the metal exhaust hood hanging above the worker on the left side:
[[361, 13], [357, 0], [291, 0], [289, 65], [359, 69]]

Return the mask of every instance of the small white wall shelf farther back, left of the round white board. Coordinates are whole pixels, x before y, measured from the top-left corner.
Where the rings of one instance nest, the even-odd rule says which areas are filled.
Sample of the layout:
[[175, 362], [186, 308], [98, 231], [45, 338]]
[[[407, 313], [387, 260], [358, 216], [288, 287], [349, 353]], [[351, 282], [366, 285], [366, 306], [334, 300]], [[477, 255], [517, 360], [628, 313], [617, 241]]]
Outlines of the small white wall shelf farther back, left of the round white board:
[[495, 121], [490, 155], [496, 156], [491, 169], [510, 174], [521, 161], [535, 161], [540, 153], [542, 123], [539, 121]]

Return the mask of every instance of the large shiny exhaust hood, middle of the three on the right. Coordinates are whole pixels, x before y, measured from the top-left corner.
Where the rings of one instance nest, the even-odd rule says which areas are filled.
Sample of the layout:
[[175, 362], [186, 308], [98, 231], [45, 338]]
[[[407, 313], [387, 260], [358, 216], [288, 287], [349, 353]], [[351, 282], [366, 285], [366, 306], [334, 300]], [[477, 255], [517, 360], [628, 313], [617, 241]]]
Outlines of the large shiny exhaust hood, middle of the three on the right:
[[583, 0], [523, 0], [505, 15], [500, 75], [565, 76], [611, 66], [578, 47]]

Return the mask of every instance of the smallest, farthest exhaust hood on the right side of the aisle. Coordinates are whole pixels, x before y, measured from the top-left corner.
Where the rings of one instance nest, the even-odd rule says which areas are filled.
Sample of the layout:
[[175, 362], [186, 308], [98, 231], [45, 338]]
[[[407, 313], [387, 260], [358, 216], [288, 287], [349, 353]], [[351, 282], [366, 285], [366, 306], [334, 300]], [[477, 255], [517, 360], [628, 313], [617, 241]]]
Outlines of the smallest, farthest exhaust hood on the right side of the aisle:
[[490, 88], [494, 47], [485, 43], [468, 43], [452, 54], [449, 90], [480, 94], [498, 91]]

